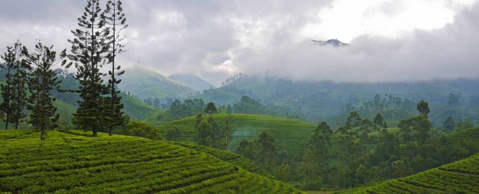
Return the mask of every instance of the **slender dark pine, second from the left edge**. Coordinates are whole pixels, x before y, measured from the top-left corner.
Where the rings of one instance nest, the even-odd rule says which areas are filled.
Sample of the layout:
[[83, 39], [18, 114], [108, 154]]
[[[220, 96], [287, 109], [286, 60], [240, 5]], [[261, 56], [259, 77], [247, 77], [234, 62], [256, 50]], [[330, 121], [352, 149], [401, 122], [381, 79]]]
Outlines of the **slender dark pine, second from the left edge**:
[[23, 59], [25, 47], [21, 46], [19, 40], [14, 44], [13, 51], [15, 54], [15, 62], [13, 65], [14, 74], [12, 75], [10, 96], [11, 96], [11, 111], [9, 122], [15, 124], [15, 129], [18, 129], [18, 124], [26, 117], [26, 114], [23, 112], [23, 109], [26, 105], [26, 80], [27, 80], [27, 69], [28, 64]]

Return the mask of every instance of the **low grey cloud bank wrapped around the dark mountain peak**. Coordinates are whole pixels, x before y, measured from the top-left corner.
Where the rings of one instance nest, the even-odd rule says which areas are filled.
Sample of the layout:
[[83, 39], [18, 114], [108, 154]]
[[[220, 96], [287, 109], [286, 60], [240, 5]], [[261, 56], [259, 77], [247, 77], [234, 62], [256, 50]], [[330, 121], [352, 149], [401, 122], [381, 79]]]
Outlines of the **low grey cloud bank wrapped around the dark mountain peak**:
[[[362, 35], [350, 46], [280, 41], [268, 49], [238, 48], [232, 61], [254, 75], [346, 82], [479, 78], [479, 3], [435, 30], [400, 38]], [[273, 41], [284, 40], [274, 38]]]

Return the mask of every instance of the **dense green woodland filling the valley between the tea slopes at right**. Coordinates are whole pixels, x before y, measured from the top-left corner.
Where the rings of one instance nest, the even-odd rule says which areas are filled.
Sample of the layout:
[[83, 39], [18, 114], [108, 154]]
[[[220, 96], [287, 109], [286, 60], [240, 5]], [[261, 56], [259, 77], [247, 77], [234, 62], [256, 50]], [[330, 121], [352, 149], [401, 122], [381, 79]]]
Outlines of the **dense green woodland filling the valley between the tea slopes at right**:
[[256, 161], [279, 180], [303, 190], [337, 190], [406, 177], [465, 158], [479, 150], [471, 143], [453, 144], [433, 130], [429, 104], [416, 105], [419, 115], [403, 119], [399, 131], [388, 129], [377, 113], [372, 120], [352, 111], [333, 130], [320, 122], [302, 154], [288, 156], [286, 146], [267, 131], [243, 139], [235, 150]]

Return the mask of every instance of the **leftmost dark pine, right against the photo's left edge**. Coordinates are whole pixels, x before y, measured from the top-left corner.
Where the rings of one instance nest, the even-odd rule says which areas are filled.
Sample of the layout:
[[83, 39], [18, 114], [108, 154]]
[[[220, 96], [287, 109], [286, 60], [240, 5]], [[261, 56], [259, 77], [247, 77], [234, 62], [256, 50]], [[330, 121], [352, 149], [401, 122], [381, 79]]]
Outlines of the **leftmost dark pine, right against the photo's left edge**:
[[3, 56], [1, 56], [1, 59], [3, 59], [4, 64], [1, 65], [1, 69], [6, 71], [5, 74], [5, 84], [1, 85], [1, 96], [3, 97], [3, 102], [1, 103], [1, 112], [5, 115], [5, 119], [3, 121], [5, 122], [5, 129], [8, 129], [8, 123], [10, 122], [10, 116], [11, 116], [11, 87], [12, 87], [12, 72], [15, 66], [15, 52], [13, 50], [13, 47], [7, 46], [6, 47], [6, 53], [3, 53]]

